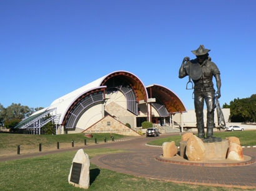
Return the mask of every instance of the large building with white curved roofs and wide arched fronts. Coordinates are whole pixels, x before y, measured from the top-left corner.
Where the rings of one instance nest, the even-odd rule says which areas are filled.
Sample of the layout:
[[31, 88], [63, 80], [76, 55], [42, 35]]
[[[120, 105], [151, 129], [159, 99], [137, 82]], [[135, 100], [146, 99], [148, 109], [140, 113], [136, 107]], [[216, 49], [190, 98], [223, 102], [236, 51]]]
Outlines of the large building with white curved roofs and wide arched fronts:
[[45, 119], [46, 113], [60, 127], [59, 133], [86, 131], [107, 115], [136, 127], [136, 118], [151, 120], [152, 112], [148, 111], [148, 105], [153, 106], [155, 116], [159, 117], [185, 111], [182, 101], [167, 88], [159, 85], [145, 87], [133, 73], [116, 71], [57, 98], [49, 107], [32, 114], [16, 128], [40, 129], [45, 121], [41, 119]]

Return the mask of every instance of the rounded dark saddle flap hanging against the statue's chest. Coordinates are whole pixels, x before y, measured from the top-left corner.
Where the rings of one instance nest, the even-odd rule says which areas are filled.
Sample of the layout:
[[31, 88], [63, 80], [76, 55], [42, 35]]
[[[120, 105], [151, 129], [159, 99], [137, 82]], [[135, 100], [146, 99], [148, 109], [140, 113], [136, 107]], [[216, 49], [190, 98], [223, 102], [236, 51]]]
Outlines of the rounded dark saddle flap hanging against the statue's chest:
[[185, 63], [185, 70], [192, 80], [199, 80], [202, 77], [203, 70], [199, 63]]

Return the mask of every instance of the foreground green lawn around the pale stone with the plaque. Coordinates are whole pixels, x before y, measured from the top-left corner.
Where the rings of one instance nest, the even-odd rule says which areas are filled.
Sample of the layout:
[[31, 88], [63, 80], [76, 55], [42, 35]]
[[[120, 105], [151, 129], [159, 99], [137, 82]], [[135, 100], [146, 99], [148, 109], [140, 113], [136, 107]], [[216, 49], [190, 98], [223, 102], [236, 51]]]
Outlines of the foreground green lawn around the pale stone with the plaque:
[[[88, 149], [89, 157], [98, 154], [124, 152], [112, 149]], [[69, 170], [76, 151], [32, 157], [16, 161], [0, 162], [0, 190], [83, 190], [68, 183]], [[159, 180], [139, 178], [101, 169], [94, 164], [90, 167], [88, 190], [239, 190], [221, 187], [205, 187], [189, 184], [174, 184]]]

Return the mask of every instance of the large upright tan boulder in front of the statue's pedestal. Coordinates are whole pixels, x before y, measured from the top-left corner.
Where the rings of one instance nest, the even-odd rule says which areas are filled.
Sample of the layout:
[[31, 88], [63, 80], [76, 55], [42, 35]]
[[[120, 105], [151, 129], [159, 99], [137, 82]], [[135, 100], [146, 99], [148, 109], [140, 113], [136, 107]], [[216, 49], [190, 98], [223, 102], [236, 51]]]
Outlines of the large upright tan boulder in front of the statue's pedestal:
[[202, 161], [205, 155], [205, 146], [202, 139], [193, 135], [187, 141], [186, 156], [189, 161]]

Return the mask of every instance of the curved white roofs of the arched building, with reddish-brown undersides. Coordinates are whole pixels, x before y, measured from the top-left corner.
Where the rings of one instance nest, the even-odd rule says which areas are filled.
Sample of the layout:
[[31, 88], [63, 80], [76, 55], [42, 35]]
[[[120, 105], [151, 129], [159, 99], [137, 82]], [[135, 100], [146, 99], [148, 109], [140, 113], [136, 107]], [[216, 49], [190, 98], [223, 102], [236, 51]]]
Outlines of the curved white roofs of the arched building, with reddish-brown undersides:
[[[148, 96], [148, 90], [147, 88], [149, 88], [150, 86], [158, 86], [160, 88], [163, 88], [164, 90], [167, 90], [168, 95], [166, 95], [166, 93], [160, 93], [159, 91], [156, 92], [159, 95], [162, 95], [162, 98], [164, 98], [164, 100], [170, 100], [172, 101], [174, 98], [175, 100], [178, 100], [177, 105], [180, 107], [178, 108], [181, 111], [185, 111], [185, 106], [183, 105], [182, 101], [179, 99], [179, 97], [177, 95], [175, 95], [175, 93], [171, 90], [169, 90], [168, 88], [161, 86], [161, 85], [150, 85], [150, 86], [145, 86], [144, 83], [140, 80], [139, 77], [137, 77], [136, 75], [134, 75], [133, 73], [124, 71], [124, 70], [119, 70], [116, 72], [111, 72], [107, 75], [104, 75], [104, 77], [98, 78], [97, 80], [94, 80], [91, 83], [88, 83], [87, 85], [82, 86], [81, 88], [78, 88], [77, 90], [71, 91], [70, 93], [67, 93], [64, 96], [61, 96], [60, 98], [57, 98], [56, 100], [52, 101], [51, 105], [47, 108], [41, 109], [40, 111], [37, 111], [35, 113], [33, 113], [31, 115], [32, 118], [34, 118], [34, 115], [38, 115], [38, 114], [44, 114], [45, 111], [51, 111], [52, 115], [57, 115], [58, 116], [58, 123], [62, 124], [65, 123], [64, 119], [66, 120], [66, 115], [68, 115], [69, 113], [69, 109], [71, 108], [72, 105], [74, 105], [74, 102], [79, 99], [79, 97], [81, 97], [82, 95], [85, 95], [86, 93], [91, 92], [92, 90], [103, 90], [104, 88], [107, 88], [108, 83], [106, 83], [109, 79], [111, 79], [112, 77], [116, 77], [118, 75], [122, 75], [125, 78], [130, 78], [130, 82], [134, 83], [134, 85], [136, 86], [135, 88], [137, 88], [136, 90], [136, 100], [140, 101], [140, 100], [145, 100], [147, 101], [149, 96]], [[122, 78], [121, 78], [122, 79]], [[127, 80], [127, 79], [126, 79]], [[110, 81], [111, 82], [111, 81]], [[104, 86], [102, 86], [102, 84]], [[172, 95], [171, 97], [169, 96]], [[171, 99], [169, 99], [171, 98]], [[176, 102], [176, 101], [175, 101]], [[169, 104], [169, 110], [170, 111], [174, 111], [175, 109], [170, 108], [172, 107], [172, 105]], [[177, 110], [177, 109], [176, 109]], [[31, 118], [31, 119], [32, 119]]]

